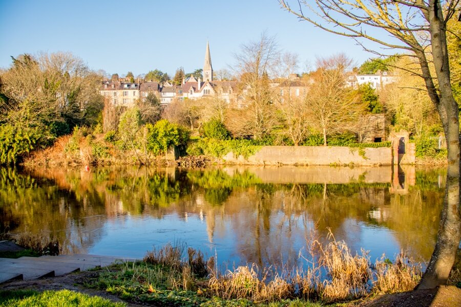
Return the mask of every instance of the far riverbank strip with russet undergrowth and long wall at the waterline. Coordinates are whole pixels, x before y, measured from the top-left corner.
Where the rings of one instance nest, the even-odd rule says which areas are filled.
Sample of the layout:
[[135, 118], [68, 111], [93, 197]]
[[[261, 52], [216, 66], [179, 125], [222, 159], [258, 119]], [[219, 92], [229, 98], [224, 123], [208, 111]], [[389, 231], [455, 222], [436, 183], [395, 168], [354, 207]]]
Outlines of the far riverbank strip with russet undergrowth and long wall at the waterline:
[[[171, 147], [164, 155], [154, 155], [142, 146], [121, 146], [106, 135], [86, 136], [80, 133], [63, 136], [53, 146], [36, 150], [25, 158], [27, 166], [108, 166], [157, 165], [202, 167], [222, 165], [329, 165], [384, 166], [394, 157], [387, 143], [353, 144], [350, 146], [259, 146], [248, 140], [192, 142], [187, 149]], [[138, 144], [139, 145], [139, 144]], [[180, 151], [183, 153], [179, 158]], [[189, 154], [184, 156], [185, 151]], [[179, 158], [179, 160], [178, 160]], [[408, 159], [407, 159], [408, 160]], [[411, 159], [410, 159], [411, 160]], [[412, 160], [414, 161], [414, 159]], [[402, 162], [405, 163], [405, 162]], [[418, 165], [446, 165], [438, 158], [417, 158]]]

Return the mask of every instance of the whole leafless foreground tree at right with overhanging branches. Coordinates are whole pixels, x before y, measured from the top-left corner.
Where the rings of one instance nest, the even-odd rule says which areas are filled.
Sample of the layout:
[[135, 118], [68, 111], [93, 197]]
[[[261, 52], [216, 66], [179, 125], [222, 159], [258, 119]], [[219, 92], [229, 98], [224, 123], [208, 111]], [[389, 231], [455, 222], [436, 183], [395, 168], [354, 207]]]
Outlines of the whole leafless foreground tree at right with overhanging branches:
[[[291, 9], [287, 0], [279, 2], [300, 19], [330, 33], [351, 37], [375, 54], [380, 52], [367, 49], [364, 41], [403, 50], [417, 59], [419, 67], [413, 73], [424, 79], [427, 94], [441, 118], [448, 147], [447, 185], [437, 243], [417, 288], [445, 284], [461, 239], [459, 115], [447, 48], [447, 25], [459, 14], [459, 0], [314, 0], [311, 4], [298, 0], [299, 10]], [[303, 7], [312, 14], [304, 14]], [[381, 31], [388, 35], [378, 35]]]

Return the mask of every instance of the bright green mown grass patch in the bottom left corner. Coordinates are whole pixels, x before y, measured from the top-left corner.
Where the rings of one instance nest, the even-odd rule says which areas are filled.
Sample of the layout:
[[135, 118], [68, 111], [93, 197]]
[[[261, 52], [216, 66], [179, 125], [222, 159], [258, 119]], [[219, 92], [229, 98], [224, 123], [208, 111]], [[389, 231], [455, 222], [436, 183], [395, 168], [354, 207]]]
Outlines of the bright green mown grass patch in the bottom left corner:
[[69, 290], [36, 292], [31, 290], [0, 291], [0, 307], [122, 307], [125, 303], [112, 302], [98, 296], [89, 296]]

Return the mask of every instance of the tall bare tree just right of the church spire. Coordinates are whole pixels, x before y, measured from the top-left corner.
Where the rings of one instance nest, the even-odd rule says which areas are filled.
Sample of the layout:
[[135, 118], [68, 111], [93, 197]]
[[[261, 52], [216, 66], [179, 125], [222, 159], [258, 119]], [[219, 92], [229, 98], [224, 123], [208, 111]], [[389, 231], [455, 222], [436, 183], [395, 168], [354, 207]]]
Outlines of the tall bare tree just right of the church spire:
[[268, 74], [277, 63], [278, 56], [275, 37], [265, 32], [259, 40], [242, 45], [240, 53], [235, 55], [236, 74], [246, 103], [244, 126], [247, 134], [255, 139], [263, 139], [274, 126], [273, 95]]

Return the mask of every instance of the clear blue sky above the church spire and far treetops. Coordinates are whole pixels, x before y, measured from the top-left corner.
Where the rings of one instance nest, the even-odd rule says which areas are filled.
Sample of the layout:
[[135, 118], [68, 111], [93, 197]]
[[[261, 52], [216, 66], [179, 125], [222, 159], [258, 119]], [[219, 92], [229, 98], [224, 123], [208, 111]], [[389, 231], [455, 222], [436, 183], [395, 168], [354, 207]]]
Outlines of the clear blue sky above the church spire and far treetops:
[[277, 0], [0, 0], [0, 68], [22, 53], [70, 51], [108, 74], [174, 75], [181, 66], [203, 67], [208, 40], [213, 69], [228, 69], [242, 43], [264, 30], [282, 50], [299, 54], [300, 72], [319, 55], [345, 52], [358, 65], [372, 57], [352, 39], [300, 22]]

